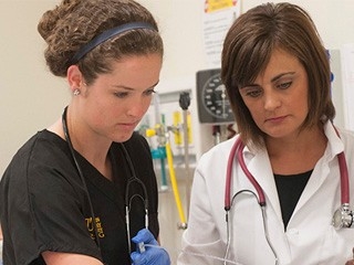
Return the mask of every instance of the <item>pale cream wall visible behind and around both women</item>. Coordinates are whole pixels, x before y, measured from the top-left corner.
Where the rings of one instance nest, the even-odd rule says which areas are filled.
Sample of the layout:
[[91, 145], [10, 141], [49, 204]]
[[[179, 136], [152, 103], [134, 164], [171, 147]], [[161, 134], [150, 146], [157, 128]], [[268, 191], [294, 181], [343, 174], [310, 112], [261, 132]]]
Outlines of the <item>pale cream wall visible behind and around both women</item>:
[[[155, 14], [165, 40], [166, 55], [158, 89], [195, 91], [196, 72], [207, 67], [202, 46], [205, 1], [139, 2]], [[243, 0], [242, 9], [246, 11], [261, 2]], [[353, 0], [291, 2], [312, 14], [326, 47], [336, 50], [354, 42]], [[41, 14], [56, 3], [59, 0], [0, 0], [0, 176], [17, 149], [37, 130], [58, 119], [69, 102], [65, 81], [51, 76], [45, 66], [44, 43], [37, 32]], [[191, 96], [194, 139], [201, 152], [212, 141], [211, 130], [198, 124], [194, 94]]]

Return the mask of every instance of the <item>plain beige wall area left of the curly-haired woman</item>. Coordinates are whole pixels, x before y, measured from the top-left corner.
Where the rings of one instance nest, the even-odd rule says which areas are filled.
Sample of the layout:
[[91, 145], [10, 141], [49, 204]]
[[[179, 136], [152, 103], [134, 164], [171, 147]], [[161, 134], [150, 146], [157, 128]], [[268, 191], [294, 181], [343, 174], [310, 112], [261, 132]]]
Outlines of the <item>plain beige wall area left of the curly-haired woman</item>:
[[59, 117], [63, 81], [45, 67], [37, 23], [58, 1], [0, 0], [0, 174], [15, 150]]

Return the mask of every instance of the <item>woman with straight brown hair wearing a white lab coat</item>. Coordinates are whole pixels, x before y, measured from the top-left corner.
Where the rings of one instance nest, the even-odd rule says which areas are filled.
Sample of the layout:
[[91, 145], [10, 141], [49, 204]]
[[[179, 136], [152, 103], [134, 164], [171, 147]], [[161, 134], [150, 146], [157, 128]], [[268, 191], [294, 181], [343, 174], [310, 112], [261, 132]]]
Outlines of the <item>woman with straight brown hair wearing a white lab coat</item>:
[[[353, 194], [354, 205], [354, 181], [351, 192], [345, 181], [341, 189], [337, 156], [344, 151], [352, 180], [354, 134], [332, 123], [330, 60], [309, 14], [267, 3], [240, 15], [223, 43], [221, 78], [239, 135], [198, 162], [177, 264], [350, 264], [354, 229], [342, 226], [352, 226], [352, 208], [347, 219], [334, 219], [339, 227], [333, 213], [342, 193]], [[233, 158], [226, 222], [228, 159], [238, 139], [262, 191]]]

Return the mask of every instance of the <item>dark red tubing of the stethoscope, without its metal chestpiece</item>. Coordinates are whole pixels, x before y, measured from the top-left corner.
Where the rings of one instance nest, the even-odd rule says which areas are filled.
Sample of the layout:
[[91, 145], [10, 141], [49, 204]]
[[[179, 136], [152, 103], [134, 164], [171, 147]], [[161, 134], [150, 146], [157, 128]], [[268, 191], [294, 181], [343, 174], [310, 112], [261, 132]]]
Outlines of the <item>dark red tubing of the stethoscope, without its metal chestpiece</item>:
[[[249, 181], [254, 187], [258, 197], [259, 197], [259, 204], [261, 206], [266, 205], [266, 195], [260, 187], [260, 184], [257, 182], [254, 177], [251, 174], [251, 172], [248, 170], [244, 159], [243, 159], [243, 148], [244, 145], [241, 141], [240, 137], [237, 138], [236, 142], [233, 144], [229, 159], [227, 165], [227, 172], [226, 172], [226, 186], [225, 186], [225, 210], [229, 211], [231, 209], [231, 178], [232, 178], [232, 165], [233, 160], [237, 157], [239, 165], [246, 174], [246, 177], [249, 179]], [[341, 173], [341, 202], [342, 204], [348, 204], [350, 203], [350, 179], [348, 179], [348, 172], [347, 172], [347, 166], [345, 161], [344, 152], [341, 152], [337, 155], [339, 159], [339, 166], [340, 166], [340, 173]]]

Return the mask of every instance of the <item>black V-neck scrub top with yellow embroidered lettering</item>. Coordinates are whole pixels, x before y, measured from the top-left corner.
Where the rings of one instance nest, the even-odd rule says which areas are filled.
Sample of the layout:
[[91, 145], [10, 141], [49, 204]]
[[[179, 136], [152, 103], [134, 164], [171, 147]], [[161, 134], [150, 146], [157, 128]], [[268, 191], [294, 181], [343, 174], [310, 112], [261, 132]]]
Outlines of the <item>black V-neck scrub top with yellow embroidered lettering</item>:
[[[48, 130], [34, 135], [13, 157], [0, 183], [4, 265], [45, 264], [44, 251], [79, 253], [104, 264], [131, 264], [125, 222], [127, 179], [133, 176], [122, 144], [110, 149], [113, 181], [75, 153], [87, 191], [66, 141]], [[149, 147], [137, 132], [124, 142], [136, 177], [148, 194], [149, 230], [157, 237], [158, 192]], [[138, 195], [134, 195], [138, 194]], [[133, 198], [133, 199], [132, 199]], [[131, 236], [145, 225], [143, 189], [132, 184]], [[96, 220], [98, 244], [93, 230]], [[133, 250], [134, 245], [133, 245]]]

